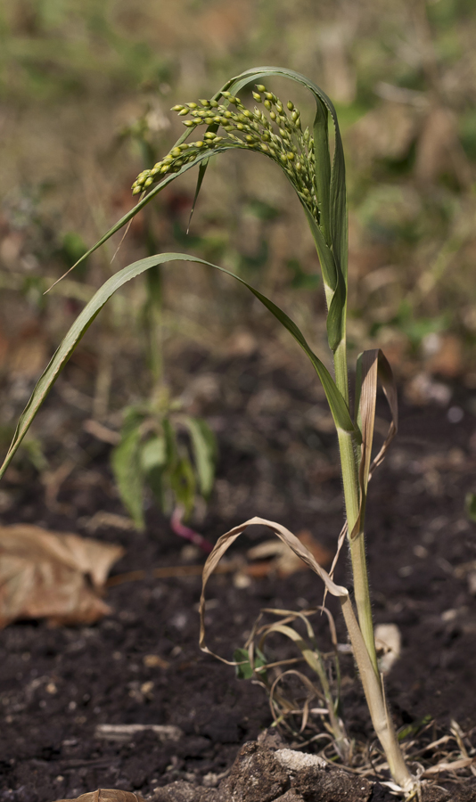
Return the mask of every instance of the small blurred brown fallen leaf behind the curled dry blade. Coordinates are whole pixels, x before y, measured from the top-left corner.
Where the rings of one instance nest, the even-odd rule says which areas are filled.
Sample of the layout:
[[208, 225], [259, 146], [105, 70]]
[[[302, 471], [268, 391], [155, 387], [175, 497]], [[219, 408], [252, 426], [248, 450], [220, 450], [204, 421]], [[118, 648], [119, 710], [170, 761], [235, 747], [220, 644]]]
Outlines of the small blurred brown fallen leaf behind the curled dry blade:
[[[308, 547], [309, 552], [316, 558], [319, 565], [326, 566], [332, 561], [332, 553], [316, 540], [308, 529], [302, 529], [298, 540]], [[289, 577], [296, 571], [305, 570], [307, 566], [300, 557], [281, 540], [265, 540], [246, 552], [249, 560], [261, 560], [259, 563], [247, 565], [244, 572], [250, 577], [267, 577], [275, 571], [278, 577]], [[267, 558], [271, 558], [268, 559]]]

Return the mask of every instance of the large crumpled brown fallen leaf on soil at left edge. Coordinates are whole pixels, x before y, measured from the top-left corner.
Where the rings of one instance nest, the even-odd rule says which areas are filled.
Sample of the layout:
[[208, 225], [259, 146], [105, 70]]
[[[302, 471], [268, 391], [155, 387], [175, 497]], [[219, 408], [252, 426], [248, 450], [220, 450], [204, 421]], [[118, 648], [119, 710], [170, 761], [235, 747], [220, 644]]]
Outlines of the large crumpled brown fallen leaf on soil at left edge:
[[111, 612], [101, 593], [124, 549], [29, 524], [0, 527], [0, 628], [17, 618], [91, 624]]

